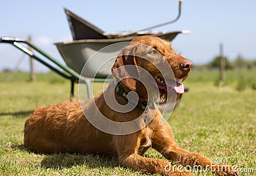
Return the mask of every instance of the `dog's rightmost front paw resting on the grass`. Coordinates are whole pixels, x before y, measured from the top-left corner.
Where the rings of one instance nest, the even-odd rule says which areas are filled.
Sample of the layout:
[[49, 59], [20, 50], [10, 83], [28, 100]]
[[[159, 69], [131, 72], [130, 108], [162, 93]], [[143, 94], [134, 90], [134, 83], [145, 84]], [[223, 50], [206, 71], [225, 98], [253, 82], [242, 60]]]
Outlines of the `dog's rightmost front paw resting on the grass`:
[[219, 176], [238, 176], [238, 171], [231, 165], [217, 165], [216, 168], [212, 168], [212, 172]]

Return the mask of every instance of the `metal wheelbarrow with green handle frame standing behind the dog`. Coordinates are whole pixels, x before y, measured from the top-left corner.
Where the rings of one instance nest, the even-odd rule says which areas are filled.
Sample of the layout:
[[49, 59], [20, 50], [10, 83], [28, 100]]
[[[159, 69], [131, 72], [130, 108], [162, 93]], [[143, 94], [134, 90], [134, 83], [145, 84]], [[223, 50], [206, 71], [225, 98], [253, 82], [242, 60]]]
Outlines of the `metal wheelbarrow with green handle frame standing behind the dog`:
[[[180, 0], [179, 15], [175, 20], [179, 19], [181, 4], [182, 4], [182, 1]], [[88, 30], [89, 36], [90, 36], [90, 32], [100, 31], [99, 28], [96, 28], [95, 26], [93, 26], [93, 24], [86, 22], [80, 17], [77, 17], [78, 19], [76, 19], [76, 15], [74, 13], [71, 13], [67, 10], [65, 11], [67, 15], [68, 14], [70, 15], [68, 16], [69, 20], [70, 20], [70, 17], [73, 17], [72, 20], [74, 21], [76, 20], [79, 20], [80, 22], [82, 21], [82, 24], [79, 24], [79, 25], [82, 25], [82, 26], [87, 25], [86, 28], [90, 28], [90, 30]], [[177, 36], [179, 33], [188, 33], [188, 32], [174, 31], [174, 32], [168, 32], [168, 33], [166, 32], [152, 33], [152, 32], [145, 32], [144, 30], [169, 24], [171, 22], [174, 22], [175, 20], [172, 20], [170, 22], [165, 22], [163, 24], [159, 24], [149, 28], [141, 29], [139, 31], [134, 31], [131, 33], [117, 33], [113, 35], [113, 34], [103, 33], [102, 31], [100, 35], [106, 36], [106, 38], [100, 38], [100, 39], [93, 38], [93, 37], [88, 38], [88, 34], [87, 34], [86, 38], [88, 39], [74, 40], [73, 42], [58, 43], [56, 44], [58, 51], [60, 52], [61, 56], [63, 57], [63, 60], [67, 65], [63, 65], [56, 59], [52, 58], [52, 56], [47, 54], [45, 51], [42, 51], [42, 49], [40, 49], [39, 47], [36, 47], [36, 45], [31, 44], [31, 42], [28, 42], [23, 38], [2, 36], [0, 39], [0, 42], [12, 44], [13, 46], [17, 47], [17, 49], [20, 49], [20, 51], [24, 52], [25, 54], [28, 54], [31, 58], [35, 58], [35, 60], [39, 61], [46, 67], [50, 68], [52, 71], [56, 72], [60, 76], [66, 79], [69, 79], [71, 83], [70, 97], [74, 96], [74, 84], [80, 80], [81, 82], [86, 84], [87, 95], [88, 95], [87, 97], [92, 98], [92, 83], [106, 81], [106, 77], [109, 75], [109, 72], [111, 72], [111, 67], [115, 60], [109, 61], [108, 64], [104, 65], [102, 68], [100, 68], [100, 70], [97, 70], [97, 68], [95, 68], [94, 65], [105, 63], [109, 59], [109, 57], [117, 56], [117, 54], [122, 49], [122, 47], [115, 47], [115, 49], [106, 52], [104, 50], [101, 50], [102, 48], [111, 44], [116, 44], [118, 42], [130, 42], [136, 36], [141, 36], [141, 35], [159, 36], [161, 38], [169, 39], [170, 41], [172, 41], [173, 38], [175, 38], [175, 36]], [[70, 22], [70, 24], [72, 25], [72, 22]], [[74, 26], [70, 26], [70, 29], [74, 29]], [[74, 33], [74, 31], [72, 31], [72, 33]], [[39, 54], [44, 56], [44, 59], [42, 59], [42, 56], [40, 58], [40, 56], [29, 51], [29, 49], [24, 47], [24, 45], [22, 44], [27, 44], [34, 51], [37, 51]], [[121, 45], [121, 46], [124, 47], [124, 45]], [[93, 54], [95, 54], [95, 52], [97, 52], [99, 57], [93, 60], [93, 65], [86, 64], [86, 68], [84, 68], [86, 72], [83, 72], [83, 74], [81, 75], [80, 73], [84, 64], [88, 62], [88, 60], [91, 58], [91, 56], [93, 56]], [[45, 59], [51, 61], [52, 64], [45, 61]], [[97, 74], [95, 75], [96, 72]], [[188, 91], [188, 88], [186, 88], [185, 91]]]

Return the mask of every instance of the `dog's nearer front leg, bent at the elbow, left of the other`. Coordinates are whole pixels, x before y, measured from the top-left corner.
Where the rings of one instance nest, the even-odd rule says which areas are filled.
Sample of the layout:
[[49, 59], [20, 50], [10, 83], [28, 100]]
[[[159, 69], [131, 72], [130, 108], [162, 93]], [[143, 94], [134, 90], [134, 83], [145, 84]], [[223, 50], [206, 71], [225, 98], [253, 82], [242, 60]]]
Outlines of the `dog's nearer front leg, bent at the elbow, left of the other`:
[[153, 159], [143, 157], [138, 154], [140, 147], [140, 132], [125, 136], [115, 136], [114, 143], [118, 152], [119, 163], [138, 172], [159, 173], [161, 175], [193, 175], [185, 170], [178, 170], [169, 165], [168, 161], [163, 159]]

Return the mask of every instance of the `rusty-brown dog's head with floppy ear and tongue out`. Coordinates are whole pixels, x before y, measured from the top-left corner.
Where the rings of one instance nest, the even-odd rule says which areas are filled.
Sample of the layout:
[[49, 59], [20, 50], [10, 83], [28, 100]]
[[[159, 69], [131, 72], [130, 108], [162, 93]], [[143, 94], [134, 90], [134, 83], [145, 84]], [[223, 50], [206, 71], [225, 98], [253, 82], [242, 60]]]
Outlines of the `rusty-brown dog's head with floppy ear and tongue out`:
[[[153, 88], [159, 92], [161, 100], [166, 102], [168, 92], [177, 95], [184, 93], [182, 81], [188, 77], [191, 67], [191, 61], [173, 51], [170, 43], [155, 36], [140, 36], [122, 49], [112, 67], [112, 73], [120, 83], [136, 91], [141, 100], [146, 100], [148, 89]], [[154, 79], [154, 83], [145, 74], [145, 70]], [[147, 88], [141, 80], [149, 82]], [[152, 88], [148, 88], [148, 85]]]

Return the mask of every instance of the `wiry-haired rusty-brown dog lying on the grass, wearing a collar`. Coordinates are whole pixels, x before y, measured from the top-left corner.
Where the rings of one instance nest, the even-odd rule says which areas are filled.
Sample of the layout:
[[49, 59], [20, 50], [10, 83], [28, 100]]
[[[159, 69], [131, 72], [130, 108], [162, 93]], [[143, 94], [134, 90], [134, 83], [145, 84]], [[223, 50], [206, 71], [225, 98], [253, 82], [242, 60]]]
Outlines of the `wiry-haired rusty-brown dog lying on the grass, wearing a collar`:
[[[132, 42], [136, 43], [121, 51], [112, 68], [119, 83], [113, 81], [104, 92], [83, 104], [72, 100], [36, 109], [25, 124], [25, 147], [46, 154], [79, 152], [114, 156], [121, 165], [139, 172], [193, 175], [171, 166], [166, 160], [141, 156], [152, 147], [176, 164], [192, 168], [201, 166], [217, 175], [238, 175], [232, 166], [218, 165], [202, 154], [182, 150], [175, 143], [170, 125], [160, 123], [162, 116], [152, 97], [157, 96], [162, 102], [172, 99], [173, 95], [179, 99], [184, 91], [181, 82], [188, 77], [192, 63], [160, 38], [141, 36]], [[127, 65], [134, 67], [125, 68]], [[172, 68], [173, 78], [166, 71], [167, 67]], [[159, 68], [164, 68], [163, 72]], [[147, 70], [150, 75], [146, 76], [141, 70]], [[147, 81], [150, 76], [154, 83]], [[145, 80], [147, 86], [143, 84]], [[134, 97], [127, 93], [133, 91], [138, 95], [138, 104], [131, 111], [116, 111], [106, 102], [113, 94], [117, 104], [124, 107], [128, 99]], [[168, 97], [168, 93], [172, 96]], [[100, 123], [101, 116], [107, 119], [106, 122]], [[120, 126], [111, 125], [113, 122]]]

